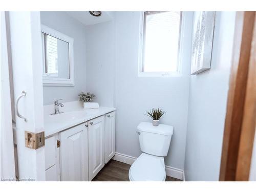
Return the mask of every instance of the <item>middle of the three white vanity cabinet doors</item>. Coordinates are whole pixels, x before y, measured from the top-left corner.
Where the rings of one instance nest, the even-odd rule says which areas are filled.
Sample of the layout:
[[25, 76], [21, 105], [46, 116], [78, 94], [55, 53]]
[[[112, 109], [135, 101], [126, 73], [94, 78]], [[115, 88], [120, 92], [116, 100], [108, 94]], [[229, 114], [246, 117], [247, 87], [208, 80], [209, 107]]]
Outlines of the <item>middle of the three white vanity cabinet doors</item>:
[[104, 166], [104, 116], [89, 121], [89, 180], [91, 181]]

